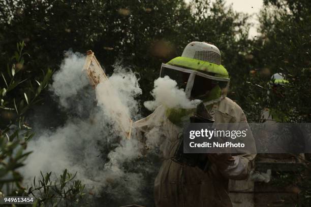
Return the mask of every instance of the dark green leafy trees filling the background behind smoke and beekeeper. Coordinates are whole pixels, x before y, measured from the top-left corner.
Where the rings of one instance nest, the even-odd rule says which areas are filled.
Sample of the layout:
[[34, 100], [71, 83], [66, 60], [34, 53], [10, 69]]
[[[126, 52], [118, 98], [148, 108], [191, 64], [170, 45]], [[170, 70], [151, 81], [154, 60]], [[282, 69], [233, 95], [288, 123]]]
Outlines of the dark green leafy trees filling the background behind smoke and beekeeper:
[[[2, 134], [11, 123], [42, 108], [53, 109], [45, 112], [50, 118], [45, 127], [66, 120], [48, 90], [34, 88], [37, 81], [47, 84], [49, 78], [44, 77], [59, 69], [65, 50], [93, 50], [108, 74], [116, 60], [131, 65], [140, 74], [143, 94], [139, 99], [143, 102], [151, 99], [149, 91], [161, 63], [179, 56], [192, 41], [211, 42], [222, 51], [223, 65], [231, 76], [228, 96], [241, 106], [249, 122], [260, 121], [263, 109], [278, 114], [283, 122], [310, 122], [308, 0], [265, 0], [261, 34], [254, 40], [247, 39], [248, 16], [225, 7], [224, 0], [193, 0], [189, 5], [181, 0], [3, 0], [0, 8], [1, 93], [8, 90], [4, 79], [12, 78], [12, 68], [18, 72], [18, 85], [2, 102], [2, 106], [18, 109], [1, 108]], [[25, 53], [16, 55], [19, 42], [24, 42]], [[290, 82], [281, 97], [267, 93], [274, 73], [285, 74]], [[36, 98], [34, 105], [28, 106], [25, 96], [28, 101]], [[18, 116], [25, 106], [27, 110]], [[150, 113], [143, 107], [141, 111]]]

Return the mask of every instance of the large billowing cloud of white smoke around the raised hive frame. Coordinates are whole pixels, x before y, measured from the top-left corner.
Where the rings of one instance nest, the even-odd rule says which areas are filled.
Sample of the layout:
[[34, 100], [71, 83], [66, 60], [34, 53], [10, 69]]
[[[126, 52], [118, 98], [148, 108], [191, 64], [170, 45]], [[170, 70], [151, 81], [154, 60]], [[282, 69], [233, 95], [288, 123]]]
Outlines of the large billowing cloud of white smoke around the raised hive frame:
[[115, 65], [109, 83], [96, 88], [97, 106], [92, 105], [94, 100], [87, 94], [95, 91], [82, 75], [84, 61], [85, 56], [68, 52], [53, 76], [50, 90], [59, 99], [61, 109], [78, 115], [69, 116], [64, 126], [53, 131], [40, 132], [28, 143], [27, 149], [33, 153], [22, 170], [25, 183], [40, 177], [40, 171], [59, 176], [67, 168], [77, 172], [77, 179], [95, 195], [105, 191], [114, 198], [139, 200], [142, 174], [127, 171], [123, 165], [141, 157], [143, 145], [136, 139], [127, 140], [118, 125], [127, 128], [128, 117], [139, 117], [135, 97], [142, 92], [138, 80], [128, 68]]

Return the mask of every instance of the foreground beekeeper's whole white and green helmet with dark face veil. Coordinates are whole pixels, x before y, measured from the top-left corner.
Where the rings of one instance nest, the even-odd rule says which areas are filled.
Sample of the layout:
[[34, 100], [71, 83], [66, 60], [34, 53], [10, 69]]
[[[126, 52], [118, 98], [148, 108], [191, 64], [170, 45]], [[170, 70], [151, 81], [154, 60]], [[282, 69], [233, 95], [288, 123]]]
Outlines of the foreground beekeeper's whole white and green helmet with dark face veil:
[[175, 80], [187, 97], [202, 99], [207, 104], [224, 98], [230, 82], [221, 64], [220, 50], [205, 42], [189, 43], [181, 57], [162, 63], [160, 77], [164, 76]]

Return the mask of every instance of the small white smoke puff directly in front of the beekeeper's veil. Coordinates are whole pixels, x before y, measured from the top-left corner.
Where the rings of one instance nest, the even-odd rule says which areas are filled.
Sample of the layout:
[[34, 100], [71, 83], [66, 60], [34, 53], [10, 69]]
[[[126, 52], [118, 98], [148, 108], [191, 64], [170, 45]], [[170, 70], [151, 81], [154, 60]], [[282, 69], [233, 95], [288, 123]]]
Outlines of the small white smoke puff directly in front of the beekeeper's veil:
[[195, 108], [200, 100], [189, 100], [183, 89], [179, 89], [177, 82], [168, 76], [158, 78], [154, 81], [154, 89], [151, 92], [154, 100], [145, 101], [144, 106], [153, 111], [160, 105], [167, 108]]

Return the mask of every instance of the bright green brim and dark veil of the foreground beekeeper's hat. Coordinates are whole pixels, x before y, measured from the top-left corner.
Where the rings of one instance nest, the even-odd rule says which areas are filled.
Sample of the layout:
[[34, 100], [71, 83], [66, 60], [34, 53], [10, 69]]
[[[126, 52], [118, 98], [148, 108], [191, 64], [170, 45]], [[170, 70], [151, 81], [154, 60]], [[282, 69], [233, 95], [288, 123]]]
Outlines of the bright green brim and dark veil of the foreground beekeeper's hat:
[[[182, 59], [184, 60], [184, 58]], [[205, 68], [205, 70], [201, 70], [199, 66], [194, 69], [191, 68], [190, 62], [186, 64], [189, 67], [184, 66], [185, 64], [182, 65], [183, 67], [177, 66], [176, 58], [174, 58], [168, 64], [162, 63], [160, 77], [169, 76], [177, 82], [179, 88], [184, 89], [188, 98], [201, 99], [205, 106], [219, 102], [226, 97], [230, 79], [225, 67], [206, 61], [194, 61], [196, 62], [195, 65], [199, 65], [199, 62], [202, 65], [201, 68]], [[172, 65], [172, 63], [175, 63], [175, 65]]]

